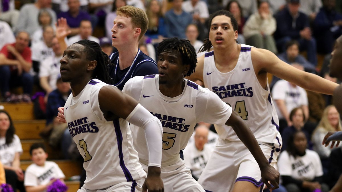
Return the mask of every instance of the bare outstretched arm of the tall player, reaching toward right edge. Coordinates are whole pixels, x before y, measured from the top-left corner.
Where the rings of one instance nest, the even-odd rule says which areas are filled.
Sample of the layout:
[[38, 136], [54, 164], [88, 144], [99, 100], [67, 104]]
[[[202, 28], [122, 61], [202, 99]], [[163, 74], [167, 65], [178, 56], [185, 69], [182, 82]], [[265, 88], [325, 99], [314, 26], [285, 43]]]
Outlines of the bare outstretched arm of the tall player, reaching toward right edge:
[[268, 72], [306, 90], [326, 95], [332, 95], [334, 89], [338, 86], [337, 83], [313, 73], [301, 71], [285, 63], [268, 50], [252, 48], [251, 51], [252, 63], [256, 74]]

